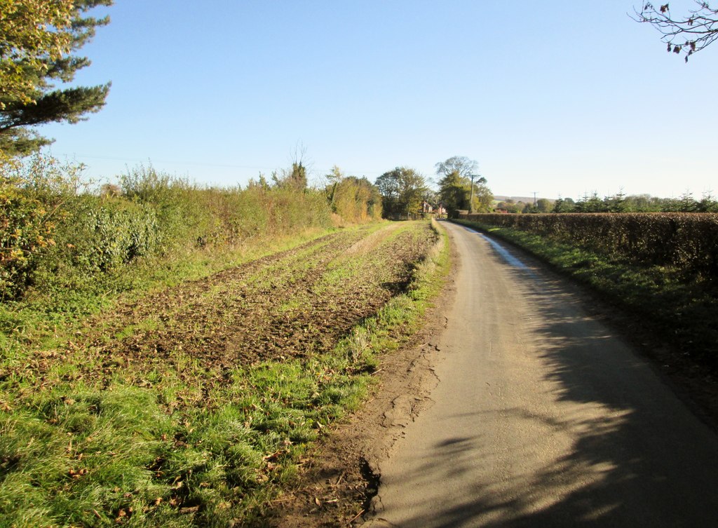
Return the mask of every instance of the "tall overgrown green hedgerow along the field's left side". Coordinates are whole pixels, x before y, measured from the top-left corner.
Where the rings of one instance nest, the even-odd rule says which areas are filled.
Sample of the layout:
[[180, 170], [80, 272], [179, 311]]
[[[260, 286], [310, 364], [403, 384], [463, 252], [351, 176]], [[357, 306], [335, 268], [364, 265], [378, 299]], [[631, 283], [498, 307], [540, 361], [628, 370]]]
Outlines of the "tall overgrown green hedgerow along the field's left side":
[[[202, 187], [144, 166], [121, 176], [119, 185], [93, 190], [82, 170], [42, 155], [0, 162], [0, 300], [18, 299], [29, 289], [89, 287], [112, 274], [121, 277], [142, 259], [333, 225], [323, 190], [279, 182]], [[355, 198], [373, 199], [370, 193]], [[350, 223], [366, 219], [353, 211], [350, 216]]]

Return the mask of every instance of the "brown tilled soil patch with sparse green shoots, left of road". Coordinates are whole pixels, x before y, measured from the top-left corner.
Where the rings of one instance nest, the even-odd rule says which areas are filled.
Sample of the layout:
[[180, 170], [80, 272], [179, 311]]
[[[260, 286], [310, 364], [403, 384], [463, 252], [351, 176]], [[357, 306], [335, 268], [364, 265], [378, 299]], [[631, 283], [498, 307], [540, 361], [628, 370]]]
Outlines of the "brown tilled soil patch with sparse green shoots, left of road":
[[107, 386], [119, 374], [149, 386], [149, 372], [176, 369], [207, 389], [238, 364], [325, 353], [405, 289], [433, 244], [428, 233], [428, 224], [421, 236], [400, 224], [333, 233], [123, 303], [88, 321], [64, 347], [38, 352], [28, 367], [41, 386], [57, 361], [79, 358], [88, 384]]

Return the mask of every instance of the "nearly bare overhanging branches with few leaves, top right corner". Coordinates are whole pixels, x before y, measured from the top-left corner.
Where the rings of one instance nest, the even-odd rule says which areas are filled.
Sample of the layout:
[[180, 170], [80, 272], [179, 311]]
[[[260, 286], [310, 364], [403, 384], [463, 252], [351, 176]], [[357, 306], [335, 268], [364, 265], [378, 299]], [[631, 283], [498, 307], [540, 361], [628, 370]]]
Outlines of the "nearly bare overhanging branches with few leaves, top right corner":
[[707, 1], [695, 0], [696, 9], [689, 14], [674, 17], [668, 4], [656, 9], [651, 2], [643, 4], [643, 9], [634, 9], [638, 22], [647, 22], [663, 35], [668, 52], [680, 55], [685, 60], [696, 52], [718, 40], [718, 9], [709, 6]]

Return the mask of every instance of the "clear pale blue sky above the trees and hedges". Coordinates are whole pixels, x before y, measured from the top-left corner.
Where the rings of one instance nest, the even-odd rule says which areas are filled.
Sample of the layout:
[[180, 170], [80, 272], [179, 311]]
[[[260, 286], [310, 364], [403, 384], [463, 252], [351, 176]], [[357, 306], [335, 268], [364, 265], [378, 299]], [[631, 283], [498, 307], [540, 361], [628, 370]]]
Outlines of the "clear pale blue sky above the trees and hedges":
[[718, 44], [686, 65], [640, 1], [116, 0], [76, 79], [106, 107], [40, 132], [95, 179], [245, 185], [303, 145], [317, 183], [460, 155], [499, 195], [716, 195]]

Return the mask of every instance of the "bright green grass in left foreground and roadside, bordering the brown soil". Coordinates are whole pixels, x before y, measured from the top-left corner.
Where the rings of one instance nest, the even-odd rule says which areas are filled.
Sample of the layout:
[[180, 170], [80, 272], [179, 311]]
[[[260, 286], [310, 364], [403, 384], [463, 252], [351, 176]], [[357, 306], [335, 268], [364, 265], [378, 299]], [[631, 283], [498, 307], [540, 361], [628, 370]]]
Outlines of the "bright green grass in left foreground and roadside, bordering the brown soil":
[[[415, 236], [422, 226], [402, 224], [396, 236]], [[446, 235], [437, 233], [437, 246], [416, 264], [405, 293], [331, 350], [307, 357], [205, 366], [178, 347], [166, 364], [134, 371], [113, 358], [110, 346], [89, 348], [75, 363], [59, 346], [81, 341], [74, 328], [34, 330], [40, 318], [31, 305], [6, 310], [0, 527], [261, 524], [270, 501], [297, 476], [310, 443], [365, 401], [381, 354], [419, 328], [449, 268]], [[363, 258], [371, 263], [373, 255]], [[297, 269], [305, 265], [293, 262]], [[335, 270], [350, 273], [341, 265]], [[214, 287], [208, 296], [222, 298]], [[294, 307], [292, 299], [284, 303]], [[119, 325], [103, 345], [172, 325], [181, 315]], [[85, 379], [83, 369], [103, 374]]]

